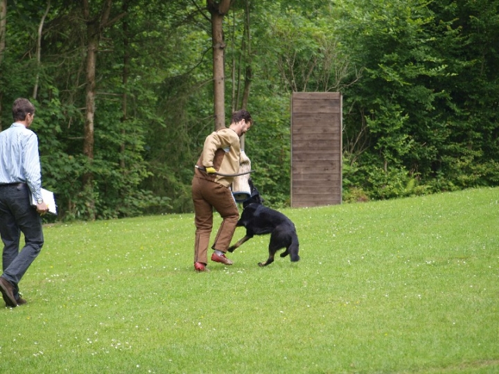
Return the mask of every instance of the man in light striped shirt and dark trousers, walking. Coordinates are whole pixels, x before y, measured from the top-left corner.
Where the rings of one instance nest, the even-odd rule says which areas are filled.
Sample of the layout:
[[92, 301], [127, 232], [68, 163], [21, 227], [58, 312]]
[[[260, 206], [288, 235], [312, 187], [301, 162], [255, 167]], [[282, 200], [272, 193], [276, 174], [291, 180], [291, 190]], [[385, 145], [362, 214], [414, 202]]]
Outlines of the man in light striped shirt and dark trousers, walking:
[[[0, 291], [6, 305], [26, 303], [19, 295], [19, 281], [44, 244], [40, 214], [49, 211], [42, 199], [42, 172], [38, 139], [29, 130], [35, 106], [18, 98], [12, 106], [14, 123], [0, 132], [0, 236], [3, 242], [3, 274]], [[36, 206], [31, 205], [31, 194]], [[25, 245], [19, 251], [21, 232]]]

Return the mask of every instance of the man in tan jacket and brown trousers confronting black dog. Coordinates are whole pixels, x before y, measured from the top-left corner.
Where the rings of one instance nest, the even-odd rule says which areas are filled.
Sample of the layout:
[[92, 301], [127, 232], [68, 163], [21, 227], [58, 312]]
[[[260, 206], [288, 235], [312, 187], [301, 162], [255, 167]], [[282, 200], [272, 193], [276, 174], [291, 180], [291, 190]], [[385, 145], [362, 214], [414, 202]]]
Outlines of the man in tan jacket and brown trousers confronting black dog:
[[239, 110], [232, 114], [231, 124], [212, 132], [204, 141], [204, 147], [194, 170], [192, 198], [195, 211], [194, 269], [207, 271], [207, 251], [211, 229], [213, 229], [213, 208], [220, 213], [222, 224], [218, 229], [212, 249], [211, 260], [232, 265], [225, 253], [230, 245], [239, 211], [232, 196], [230, 185], [239, 172], [239, 138], [252, 125], [249, 112]]

